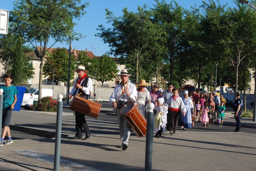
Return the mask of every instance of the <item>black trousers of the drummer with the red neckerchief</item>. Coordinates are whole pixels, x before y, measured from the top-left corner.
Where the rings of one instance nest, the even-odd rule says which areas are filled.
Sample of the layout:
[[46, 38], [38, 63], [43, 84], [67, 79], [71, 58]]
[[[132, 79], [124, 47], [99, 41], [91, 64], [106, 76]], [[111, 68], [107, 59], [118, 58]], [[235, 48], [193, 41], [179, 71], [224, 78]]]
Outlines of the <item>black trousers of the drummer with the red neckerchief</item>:
[[90, 134], [89, 126], [85, 120], [85, 115], [75, 112], [76, 114], [76, 137], [82, 138], [83, 128], [85, 134]]

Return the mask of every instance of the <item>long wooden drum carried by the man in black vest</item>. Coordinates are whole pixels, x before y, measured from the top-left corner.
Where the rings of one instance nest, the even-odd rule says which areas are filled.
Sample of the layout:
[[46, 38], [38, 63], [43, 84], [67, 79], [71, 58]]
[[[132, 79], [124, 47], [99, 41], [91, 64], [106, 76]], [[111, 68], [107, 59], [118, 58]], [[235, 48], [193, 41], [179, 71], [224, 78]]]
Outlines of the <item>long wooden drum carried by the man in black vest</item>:
[[102, 104], [96, 103], [80, 96], [74, 96], [69, 109], [80, 114], [98, 118]]

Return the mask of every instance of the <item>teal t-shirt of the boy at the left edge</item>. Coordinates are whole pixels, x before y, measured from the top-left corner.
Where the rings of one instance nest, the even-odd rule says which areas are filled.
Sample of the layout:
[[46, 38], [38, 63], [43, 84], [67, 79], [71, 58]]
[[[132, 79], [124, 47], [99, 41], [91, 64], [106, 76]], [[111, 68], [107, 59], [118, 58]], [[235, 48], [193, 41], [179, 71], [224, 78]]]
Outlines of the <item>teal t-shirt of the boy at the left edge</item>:
[[14, 95], [18, 94], [18, 90], [16, 86], [11, 85], [11, 86], [3, 86], [1, 87], [4, 92], [4, 102], [3, 102], [3, 108], [10, 108], [12, 103], [14, 102]]

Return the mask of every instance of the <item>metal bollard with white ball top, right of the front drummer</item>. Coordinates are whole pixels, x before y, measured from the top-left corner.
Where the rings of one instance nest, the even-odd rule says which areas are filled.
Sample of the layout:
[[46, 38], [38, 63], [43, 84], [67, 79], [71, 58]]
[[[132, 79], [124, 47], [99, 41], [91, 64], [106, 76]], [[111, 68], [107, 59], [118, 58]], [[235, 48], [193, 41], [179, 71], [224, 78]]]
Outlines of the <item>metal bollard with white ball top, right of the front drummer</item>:
[[154, 104], [148, 104], [147, 114], [147, 135], [146, 135], [146, 155], [145, 155], [145, 171], [152, 170], [152, 151], [153, 151], [153, 128], [154, 128]]

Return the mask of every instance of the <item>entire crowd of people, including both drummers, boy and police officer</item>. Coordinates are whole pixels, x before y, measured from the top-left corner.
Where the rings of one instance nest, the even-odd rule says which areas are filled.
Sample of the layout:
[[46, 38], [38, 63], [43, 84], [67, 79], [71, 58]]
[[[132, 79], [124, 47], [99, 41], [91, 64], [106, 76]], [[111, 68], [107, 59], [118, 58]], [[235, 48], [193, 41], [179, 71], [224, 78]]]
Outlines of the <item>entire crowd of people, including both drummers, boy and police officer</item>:
[[[92, 79], [90, 79], [86, 73], [84, 66], [78, 66], [76, 70], [78, 79], [74, 82], [72, 91], [68, 94], [69, 98], [72, 96], [81, 96], [85, 99], [92, 94]], [[142, 115], [146, 118], [147, 104], [153, 103], [155, 105], [154, 111], [154, 132], [155, 137], [161, 138], [162, 133], [167, 131], [171, 135], [176, 134], [177, 126], [180, 126], [182, 130], [187, 131], [194, 126], [194, 118], [199, 118], [202, 122], [202, 126], [211, 126], [214, 124], [214, 120], [218, 120], [219, 126], [222, 127], [225, 116], [225, 103], [226, 100], [221, 95], [220, 97], [215, 92], [210, 92], [209, 97], [205, 93], [199, 95], [196, 91], [188, 93], [184, 91], [184, 95], [179, 94], [179, 89], [174, 85], [168, 85], [166, 92], [160, 89], [158, 85], [154, 85], [152, 90], [148, 91], [146, 86], [150, 86], [145, 80], [141, 80], [136, 85], [130, 83], [128, 71], [125, 69], [121, 71], [120, 75], [121, 83], [114, 88], [109, 100], [113, 107], [113, 112], [117, 115], [120, 133], [120, 147], [122, 150], [128, 148], [128, 140], [131, 133], [131, 128], [128, 122], [123, 116], [119, 114], [120, 108], [125, 106], [128, 101], [134, 102], [135, 106], [140, 110]], [[18, 91], [15, 86], [11, 85], [12, 76], [10, 74], [4, 75], [4, 82], [6, 86], [1, 87], [4, 89], [4, 101], [3, 101], [3, 132], [0, 141], [0, 147], [4, 144], [4, 138], [7, 134], [8, 139], [5, 144], [12, 143], [12, 137], [10, 135], [10, 120], [12, 115], [12, 109], [17, 101]], [[236, 93], [236, 101], [234, 102], [234, 112], [236, 118], [236, 130], [234, 132], [240, 132], [241, 122], [240, 115], [242, 114], [242, 99], [240, 94]], [[85, 119], [85, 115], [80, 112], [75, 112], [76, 115], [76, 134], [72, 137], [72, 140], [82, 139], [83, 129], [85, 130], [85, 140], [90, 138], [91, 132]]]

